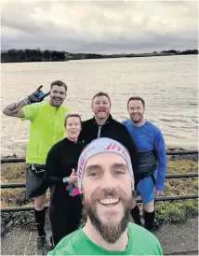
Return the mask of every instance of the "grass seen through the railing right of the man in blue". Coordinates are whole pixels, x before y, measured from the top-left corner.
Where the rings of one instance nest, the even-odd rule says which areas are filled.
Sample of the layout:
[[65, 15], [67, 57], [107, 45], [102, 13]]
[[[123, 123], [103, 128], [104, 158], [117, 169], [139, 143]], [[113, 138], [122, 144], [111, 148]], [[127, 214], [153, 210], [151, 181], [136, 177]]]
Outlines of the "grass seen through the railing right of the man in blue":
[[[198, 163], [193, 161], [168, 161], [168, 174], [197, 173]], [[198, 193], [198, 178], [171, 178], [166, 180], [166, 196]], [[198, 200], [158, 202], [157, 213], [168, 222], [180, 223], [198, 215]]]

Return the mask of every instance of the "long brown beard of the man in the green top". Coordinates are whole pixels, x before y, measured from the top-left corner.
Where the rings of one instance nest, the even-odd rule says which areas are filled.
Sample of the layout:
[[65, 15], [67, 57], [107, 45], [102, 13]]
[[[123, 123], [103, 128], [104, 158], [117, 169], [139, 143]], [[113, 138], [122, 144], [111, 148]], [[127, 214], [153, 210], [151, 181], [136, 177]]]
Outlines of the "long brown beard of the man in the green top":
[[[106, 190], [104, 192], [99, 192], [99, 190], [97, 190], [91, 196], [91, 200], [87, 200], [86, 198], [84, 198], [84, 206], [86, 209], [87, 216], [89, 217], [91, 223], [96, 228], [96, 230], [99, 232], [99, 234], [103, 237], [103, 239], [106, 242], [113, 244], [116, 240], [119, 239], [119, 237], [126, 230], [127, 224], [130, 219], [132, 198], [131, 197], [127, 198], [126, 192], [123, 192], [121, 189], [120, 189], [120, 192], [116, 192], [116, 194], [119, 195], [121, 203], [124, 206], [124, 215], [119, 222], [114, 222], [114, 219], [113, 219], [113, 220], [108, 221], [108, 223], [103, 224], [103, 222], [100, 220], [100, 218], [97, 214], [96, 205], [97, 205], [97, 200], [98, 200], [97, 198], [100, 198], [97, 195], [99, 195], [99, 193], [105, 194], [105, 192], [108, 192], [108, 191]], [[114, 196], [114, 197], [116, 197], [116, 196]]]

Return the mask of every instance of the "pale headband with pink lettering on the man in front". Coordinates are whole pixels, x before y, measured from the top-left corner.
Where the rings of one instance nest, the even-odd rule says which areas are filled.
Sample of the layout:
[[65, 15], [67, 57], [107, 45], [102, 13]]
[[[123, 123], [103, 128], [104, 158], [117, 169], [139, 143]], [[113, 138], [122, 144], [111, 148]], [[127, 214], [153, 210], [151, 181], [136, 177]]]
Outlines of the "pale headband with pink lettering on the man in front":
[[134, 175], [133, 168], [131, 164], [130, 155], [128, 150], [120, 142], [113, 140], [108, 137], [100, 137], [90, 142], [86, 148], [82, 151], [77, 167], [78, 175], [78, 187], [79, 190], [82, 189], [82, 180], [85, 172], [85, 165], [89, 158], [99, 153], [111, 152], [122, 156], [126, 160], [128, 166], [128, 171], [132, 179], [133, 189], [134, 189]]

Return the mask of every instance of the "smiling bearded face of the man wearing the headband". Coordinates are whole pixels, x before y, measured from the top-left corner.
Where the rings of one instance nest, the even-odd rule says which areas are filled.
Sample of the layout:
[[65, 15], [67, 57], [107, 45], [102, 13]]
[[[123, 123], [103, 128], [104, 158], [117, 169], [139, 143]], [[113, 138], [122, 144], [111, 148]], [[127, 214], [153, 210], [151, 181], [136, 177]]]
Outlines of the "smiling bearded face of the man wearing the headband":
[[126, 160], [115, 153], [88, 159], [83, 178], [84, 206], [100, 235], [114, 243], [126, 230], [132, 203], [132, 180]]

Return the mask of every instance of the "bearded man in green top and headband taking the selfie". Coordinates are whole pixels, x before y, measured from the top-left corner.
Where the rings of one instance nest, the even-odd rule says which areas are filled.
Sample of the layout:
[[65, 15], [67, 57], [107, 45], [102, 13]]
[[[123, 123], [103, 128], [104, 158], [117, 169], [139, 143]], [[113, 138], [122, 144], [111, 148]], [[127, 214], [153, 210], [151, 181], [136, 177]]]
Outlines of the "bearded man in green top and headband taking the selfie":
[[48, 255], [163, 255], [152, 233], [129, 222], [134, 176], [122, 144], [106, 137], [88, 144], [78, 162], [78, 187], [86, 224], [65, 236]]

